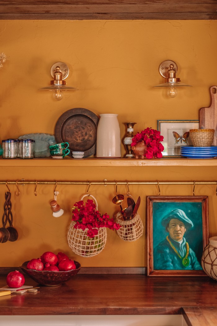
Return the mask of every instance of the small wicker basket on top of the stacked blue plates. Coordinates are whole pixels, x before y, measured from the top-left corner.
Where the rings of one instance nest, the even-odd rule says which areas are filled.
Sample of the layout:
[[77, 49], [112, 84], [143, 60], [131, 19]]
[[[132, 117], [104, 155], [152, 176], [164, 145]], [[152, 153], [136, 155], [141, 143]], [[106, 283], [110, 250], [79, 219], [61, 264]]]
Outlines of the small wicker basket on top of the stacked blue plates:
[[194, 147], [211, 146], [215, 129], [190, 129], [190, 138]]

